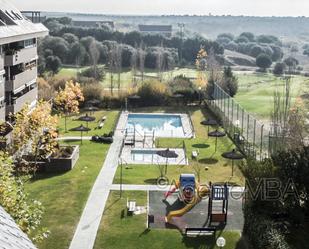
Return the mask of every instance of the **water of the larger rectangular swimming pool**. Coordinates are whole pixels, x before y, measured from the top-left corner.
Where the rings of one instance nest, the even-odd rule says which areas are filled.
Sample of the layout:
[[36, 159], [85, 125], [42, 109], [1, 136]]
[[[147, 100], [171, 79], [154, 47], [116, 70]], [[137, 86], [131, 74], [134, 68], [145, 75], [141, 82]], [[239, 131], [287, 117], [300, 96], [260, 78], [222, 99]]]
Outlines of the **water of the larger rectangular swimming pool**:
[[140, 135], [152, 132], [156, 137], [184, 136], [179, 114], [129, 114], [126, 128]]

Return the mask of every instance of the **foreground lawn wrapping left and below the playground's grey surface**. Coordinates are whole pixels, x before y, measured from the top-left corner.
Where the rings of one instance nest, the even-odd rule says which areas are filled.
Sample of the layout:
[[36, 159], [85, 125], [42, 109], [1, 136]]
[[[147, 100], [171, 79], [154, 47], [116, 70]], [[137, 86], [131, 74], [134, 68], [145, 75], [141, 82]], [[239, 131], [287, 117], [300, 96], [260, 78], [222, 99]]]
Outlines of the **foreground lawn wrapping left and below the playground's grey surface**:
[[[212, 248], [216, 249], [214, 238], [184, 238], [176, 229], [146, 229], [146, 214], [122, 217], [127, 198], [135, 199], [137, 205], [147, 205], [146, 192], [125, 191], [122, 199], [119, 192], [110, 193], [104, 217], [97, 234], [95, 249], [168, 249], [168, 248]], [[239, 232], [218, 231], [217, 236], [226, 239], [224, 249], [244, 249]]]

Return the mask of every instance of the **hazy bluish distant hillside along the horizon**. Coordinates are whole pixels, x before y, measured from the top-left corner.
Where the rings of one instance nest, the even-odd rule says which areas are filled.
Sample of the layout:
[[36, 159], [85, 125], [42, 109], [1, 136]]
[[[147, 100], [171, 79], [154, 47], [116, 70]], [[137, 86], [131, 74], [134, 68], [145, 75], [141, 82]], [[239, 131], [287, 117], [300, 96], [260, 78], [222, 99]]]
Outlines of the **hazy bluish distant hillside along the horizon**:
[[207, 38], [215, 38], [220, 33], [240, 34], [250, 31], [255, 34], [269, 34], [281, 37], [308, 38], [308, 17], [249, 17], [249, 16], [119, 16], [79, 13], [44, 12], [48, 17], [68, 16], [73, 20], [111, 20], [116, 28], [129, 31], [138, 24], [171, 24], [174, 31], [178, 23], [184, 23], [186, 30], [201, 34]]

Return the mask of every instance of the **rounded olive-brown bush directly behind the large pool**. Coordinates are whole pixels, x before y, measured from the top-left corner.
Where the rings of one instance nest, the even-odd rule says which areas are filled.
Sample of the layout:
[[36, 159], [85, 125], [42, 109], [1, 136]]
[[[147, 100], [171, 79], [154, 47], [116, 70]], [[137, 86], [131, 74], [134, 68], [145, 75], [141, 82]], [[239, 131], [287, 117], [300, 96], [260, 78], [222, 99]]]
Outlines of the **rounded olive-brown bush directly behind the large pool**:
[[166, 85], [156, 81], [145, 82], [137, 91], [137, 94], [141, 97], [139, 100], [142, 106], [156, 106], [163, 105], [167, 99]]

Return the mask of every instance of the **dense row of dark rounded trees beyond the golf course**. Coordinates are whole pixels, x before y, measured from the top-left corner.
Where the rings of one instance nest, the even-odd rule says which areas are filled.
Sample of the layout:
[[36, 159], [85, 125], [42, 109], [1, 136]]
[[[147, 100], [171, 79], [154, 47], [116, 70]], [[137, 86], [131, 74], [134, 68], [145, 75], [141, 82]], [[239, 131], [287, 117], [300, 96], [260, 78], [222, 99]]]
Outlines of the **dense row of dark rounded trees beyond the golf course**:
[[201, 46], [207, 51], [213, 48], [216, 54], [224, 52], [220, 44], [201, 36], [167, 38], [162, 35], [142, 35], [137, 31], [111, 31], [107, 27], [82, 28], [72, 26], [68, 18], [47, 19], [45, 25], [50, 29], [51, 36], [40, 44], [40, 73], [45, 70], [56, 72], [61, 64], [108, 65], [112, 54], [115, 55], [115, 49], [120, 50], [118, 54], [121, 55], [122, 67], [131, 66], [135, 54], [143, 50], [145, 67], [155, 68], [157, 54], [163, 53], [163, 70], [177, 64], [194, 63], [195, 54]]

